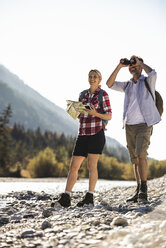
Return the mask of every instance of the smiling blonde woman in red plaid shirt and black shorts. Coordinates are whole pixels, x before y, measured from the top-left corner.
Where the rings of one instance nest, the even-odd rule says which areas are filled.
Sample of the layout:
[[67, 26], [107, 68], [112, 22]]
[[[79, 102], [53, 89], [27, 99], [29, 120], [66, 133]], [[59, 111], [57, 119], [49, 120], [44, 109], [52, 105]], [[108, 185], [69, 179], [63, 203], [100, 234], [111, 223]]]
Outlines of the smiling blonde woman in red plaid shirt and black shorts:
[[94, 205], [93, 193], [98, 179], [97, 162], [105, 144], [104, 126], [102, 120], [111, 120], [111, 107], [108, 94], [103, 91], [102, 108], [99, 101], [99, 92], [101, 90], [100, 82], [102, 80], [101, 73], [98, 70], [91, 70], [88, 74], [90, 88], [85, 91], [82, 98], [80, 94], [79, 101], [84, 105], [88, 105], [87, 114], [79, 116], [79, 134], [75, 143], [73, 156], [71, 159], [69, 174], [66, 183], [65, 193], [52, 206], [61, 205], [63, 207], [71, 206], [70, 194], [74, 184], [77, 181], [78, 170], [87, 157], [87, 167], [89, 169], [89, 192], [86, 193], [84, 199], [78, 202], [77, 206], [82, 207], [85, 204]]

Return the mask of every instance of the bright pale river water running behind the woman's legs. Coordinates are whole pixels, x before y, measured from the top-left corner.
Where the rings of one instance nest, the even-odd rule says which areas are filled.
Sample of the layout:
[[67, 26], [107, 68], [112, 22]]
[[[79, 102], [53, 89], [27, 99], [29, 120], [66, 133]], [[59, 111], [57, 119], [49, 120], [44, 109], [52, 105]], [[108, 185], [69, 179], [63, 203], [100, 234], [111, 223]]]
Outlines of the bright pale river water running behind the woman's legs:
[[[0, 177], [0, 194], [12, 191], [27, 190], [49, 194], [62, 193], [66, 186], [67, 178], [6, 178]], [[73, 191], [85, 191], [88, 188], [89, 180], [81, 178], [75, 184]], [[113, 187], [134, 186], [134, 181], [118, 181], [99, 179], [96, 184], [96, 191], [110, 190]]]

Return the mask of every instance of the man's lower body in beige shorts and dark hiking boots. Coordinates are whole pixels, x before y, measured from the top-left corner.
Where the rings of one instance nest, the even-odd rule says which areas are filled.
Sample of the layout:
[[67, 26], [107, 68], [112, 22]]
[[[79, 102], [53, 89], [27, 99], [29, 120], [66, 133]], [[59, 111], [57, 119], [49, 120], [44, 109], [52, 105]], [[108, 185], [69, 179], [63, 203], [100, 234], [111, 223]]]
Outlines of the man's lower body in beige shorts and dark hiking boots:
[[[127, 147], [130, 158], [134, 164], [134, 174], [137, 181], [136, 193], [127, 201], [137, 201], [137, 198], [147, 199], [147, 174], [148, 165], [146, 160], [147, 149], [150, 144], [152, 127], [146, 124], [126, 125]], [[141, 181], [141, 182], [140, 182]], [[141, 190], [140, 194], [139, 191]]]

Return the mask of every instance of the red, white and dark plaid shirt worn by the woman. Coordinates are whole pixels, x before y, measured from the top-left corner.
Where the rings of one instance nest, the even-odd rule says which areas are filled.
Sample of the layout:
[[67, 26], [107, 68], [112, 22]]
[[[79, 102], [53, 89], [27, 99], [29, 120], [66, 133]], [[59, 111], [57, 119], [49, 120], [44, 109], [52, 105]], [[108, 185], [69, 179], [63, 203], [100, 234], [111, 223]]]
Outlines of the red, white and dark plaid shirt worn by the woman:
[[[84, 98], [82, 99], [82, 103], [84, 105], [93, 104], [96, 111], [100, 113], [100, 102], [98, 99], [100, 88], [98, 88], [93, 94], [90, 93], [89, 90], [85, 93]], [[79, 101], [81, 101], [81, 93], [79, 96]], [[111, 106], [109, 101], [109, 96], [106, 91], [103, 92], [103, 110], [105, 114], [111, 114]], [[80, 127], [79, 127], [79, 135], [94, 135], [98, 133], [102, 128], [102, 119], [99, 117], [95, 117], [87, 114], [80, 114]]]

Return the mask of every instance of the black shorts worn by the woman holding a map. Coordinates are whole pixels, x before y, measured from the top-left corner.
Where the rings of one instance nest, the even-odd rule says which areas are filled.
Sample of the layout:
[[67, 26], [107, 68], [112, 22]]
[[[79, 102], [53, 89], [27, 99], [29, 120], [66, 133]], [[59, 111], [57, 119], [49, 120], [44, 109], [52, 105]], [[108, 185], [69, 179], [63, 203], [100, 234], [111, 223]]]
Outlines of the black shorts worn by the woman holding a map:
[[77, 137], [73, 156], [87, 157], [88, 153], [102, 154], [105, 145], [105, 134], [102, 129], [95, 135], [79, 135]]

